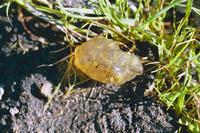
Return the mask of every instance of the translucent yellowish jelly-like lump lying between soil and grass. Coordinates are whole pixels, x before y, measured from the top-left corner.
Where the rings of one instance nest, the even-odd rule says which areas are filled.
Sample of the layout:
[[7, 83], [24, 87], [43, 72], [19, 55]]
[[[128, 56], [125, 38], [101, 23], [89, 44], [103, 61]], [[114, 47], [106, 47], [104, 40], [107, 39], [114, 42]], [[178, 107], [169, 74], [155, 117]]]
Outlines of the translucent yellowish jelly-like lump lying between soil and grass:
[[74, 65], [91, 79], [116, 85], [143, 73], [139, 58], [122, 51], [116, 42], [98, 37], [75, 49]]

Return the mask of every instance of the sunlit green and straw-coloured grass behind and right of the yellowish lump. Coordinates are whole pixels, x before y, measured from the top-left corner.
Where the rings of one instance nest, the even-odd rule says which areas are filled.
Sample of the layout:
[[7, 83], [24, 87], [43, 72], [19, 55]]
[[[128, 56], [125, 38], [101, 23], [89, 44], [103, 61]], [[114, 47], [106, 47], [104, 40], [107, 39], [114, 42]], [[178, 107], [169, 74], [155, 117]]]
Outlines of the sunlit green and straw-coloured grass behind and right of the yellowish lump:
[[[103, 29], [103, 36], [132, 42], [133, 49], [134, 40], [155, 45], [159, 64], [154, 71], [154, 91], [180, 116], [180, 124], [188, 126], [191, 132], [200, 132], [200, 30], [189, 21], [191, 13], [200, 14], [200, 10], [192, 0], [139, 0], [134, 11], [127, 0], [116, 0], [114, 4], [98, 0], [93, 8], [63, 7], [61, 0], [56, 0], [54, 6], [48, 1], [10, 0], [7, 9], [13, 2], [55, 24], [66, 33], [71, 47], [98, 36], [92, 26]], [[176, 16], [177, 7], [184, 7], [183, 18]], [[168, 16], [171, 32], [166, 28]], [[77, 26], [77, 22], [83, 25]]]

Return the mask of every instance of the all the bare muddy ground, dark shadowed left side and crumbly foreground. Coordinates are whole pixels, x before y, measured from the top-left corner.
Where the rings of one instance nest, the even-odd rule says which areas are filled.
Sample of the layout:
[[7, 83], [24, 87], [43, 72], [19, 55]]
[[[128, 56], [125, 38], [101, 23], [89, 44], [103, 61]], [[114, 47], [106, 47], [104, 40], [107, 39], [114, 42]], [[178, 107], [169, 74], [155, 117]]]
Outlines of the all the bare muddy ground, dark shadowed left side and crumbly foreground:
[[[16, 9], [12, 6], [10, 11], [12, 26], [5, 10], [0, 10], [0, 86], [5, 91], [0, 100], [1, 133], [177, 131], [178, 118], [173, 111], [166, 110], [155, 97], [144, 96], [154, 80], [149, 71], [120, 87], [94, 85], [90, 81], [76, 87], [77, 91], [67, 98], [60, 91], [44, 111], [47, 99], [39, 88], [44, 84], [56, 86], [64, 72], [59, 65], [38, 66], [54, 63], [68, 54], [65, 50], [51, 53], [66, 46], [64, 34], [26, 13], [29, 19], [25, 24], [35, 36], [30, 35]], [[42, 39], [37, 38], [41, 36]], [[46, 44], [42, 44], [44, 39]], [[140, 57], [158, 59], [156, 48], [139, 43], [143, 44], [137, 46]], [[27, 50], [25, 54], [23, 48]]]

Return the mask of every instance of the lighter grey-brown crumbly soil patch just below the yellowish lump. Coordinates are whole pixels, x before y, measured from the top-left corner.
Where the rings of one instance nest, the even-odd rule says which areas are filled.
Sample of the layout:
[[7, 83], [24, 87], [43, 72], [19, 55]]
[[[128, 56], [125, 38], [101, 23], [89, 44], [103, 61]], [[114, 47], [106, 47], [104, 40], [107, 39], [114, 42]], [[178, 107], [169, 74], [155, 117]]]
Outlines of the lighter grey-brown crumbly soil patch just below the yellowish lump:
[[[40, 74], [23, 80], [21, 109], [12, 117], [16, 132], [174, 132], [174, 119], [150, 97], [137, 94], [131, 82], [122, 88], [99, 85], [63, 99], [59, 94], [43, 112], [45, 100], [34, 95]], [[139, 87], [139, 86], [138, 86]], [[142, 86], [140, 86], [142, 87]]]

